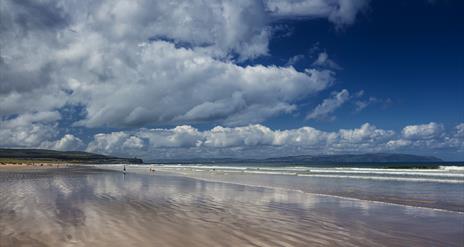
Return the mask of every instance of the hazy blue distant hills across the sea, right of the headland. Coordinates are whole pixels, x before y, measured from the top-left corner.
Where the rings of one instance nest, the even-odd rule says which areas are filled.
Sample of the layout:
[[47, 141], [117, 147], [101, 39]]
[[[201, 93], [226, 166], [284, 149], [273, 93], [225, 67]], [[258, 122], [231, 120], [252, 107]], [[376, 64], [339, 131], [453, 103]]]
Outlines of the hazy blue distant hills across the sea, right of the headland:
[[432, 163], [444, 162], [434, 156], [420, 156], [398, 153], [298, 155], [266, 159], [240, 158], [198, 158], [198, 159], [159, 159], [157, 163], [271, 163], [271, 164], [333, 164], [333, 163]]

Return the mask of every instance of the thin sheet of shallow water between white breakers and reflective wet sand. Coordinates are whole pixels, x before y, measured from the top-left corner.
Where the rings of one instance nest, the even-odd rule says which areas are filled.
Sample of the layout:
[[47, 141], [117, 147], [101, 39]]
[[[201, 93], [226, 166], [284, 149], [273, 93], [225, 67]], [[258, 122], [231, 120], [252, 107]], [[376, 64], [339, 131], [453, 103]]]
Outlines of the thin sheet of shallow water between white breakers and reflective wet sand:
[[[141, 169], [146, 170], [144, 168], [130, 168], [134, 172]], [[209, 168], [167, 168], [158, 166], [156, 170], [174, 176], [180, 175], [213, 182], [281, 188], [310, 194], [464, 213], [464, 179], [462, 177], [447, 176], [446, 179], [440, 179], [440, 182], [433, 182], [434, 180], [431, 182], [416, 182], [416, 180], [409, 181], [410, 177], [406, 178], [406, 180], [374, 179], [376, 177], [370, 174], [363, 177], [363, 179], [359, 179], [349, 176], [317, 177], [316, 175], [310, 177], [306, 176], [306, 174], [305, 176], [275, 173], [256, 174], [222, 168], [213, 170]], [[260, 172], [267, 172], [263, 170], [261, 168]], [[315, 173], [315, 171], [311, 172], [311, 174]], [[455, 182], [456, 179], [459, 179], [458, 183]]]

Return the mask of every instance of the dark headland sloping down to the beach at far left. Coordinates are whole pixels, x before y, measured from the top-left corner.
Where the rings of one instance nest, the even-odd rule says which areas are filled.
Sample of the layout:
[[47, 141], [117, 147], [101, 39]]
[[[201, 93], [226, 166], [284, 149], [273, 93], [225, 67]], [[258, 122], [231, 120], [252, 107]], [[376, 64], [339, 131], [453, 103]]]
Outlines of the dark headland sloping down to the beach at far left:
[[84, 164], [141, 164], [143, 160], [137, 158], [119, 158], [101, 154], [79, 151], [55, 151], [46, 149], [9, 149], [0, 148], [0, 161], [24, 160], [40, 162], [68, 162]]

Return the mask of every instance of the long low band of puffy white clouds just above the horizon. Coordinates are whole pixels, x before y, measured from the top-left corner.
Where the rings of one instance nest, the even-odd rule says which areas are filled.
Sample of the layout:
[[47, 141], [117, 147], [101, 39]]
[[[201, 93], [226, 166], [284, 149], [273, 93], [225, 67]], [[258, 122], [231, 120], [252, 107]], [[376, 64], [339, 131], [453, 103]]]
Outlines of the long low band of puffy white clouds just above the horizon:
[[[459, 125], [458, 125], [459, 126]], [[216, 126], [200, 131], [183, 125], [170, 129], [138, 129], [101, 133], [87, 151], [116, 155], [137, 155], [145, 159], [192, 157], [272, 157], [301, 154], [365, 152], [413, 152], [435, 150], [464, 152], [464, 138], [447, 132], [438, 139], [404, 139], [402, 133], [370, 123], [359, 128], [323, 131], [305, 126], [273, 130], [254, 124], [241, 127]], [[128, 147], [128, 143], [137, 143]]]

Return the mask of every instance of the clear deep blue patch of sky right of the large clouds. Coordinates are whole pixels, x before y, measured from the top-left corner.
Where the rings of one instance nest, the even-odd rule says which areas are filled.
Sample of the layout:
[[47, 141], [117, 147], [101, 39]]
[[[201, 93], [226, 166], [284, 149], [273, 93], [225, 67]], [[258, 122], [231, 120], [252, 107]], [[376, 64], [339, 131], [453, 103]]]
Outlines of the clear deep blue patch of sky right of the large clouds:
[[[462, 122], [464, 32], [458, 31], [464, 22], [459, 12], [462, 7], [456, 1], [372, 1], [366, 13], [343, 30], [335, 30], [324, 20], [286, 23], [293, 35], [272, 41], [274, 55], [266, 62], [278, 63], [279, 58], [300, 54], [308, 57], [318, 44], [343, 67], [337, 71], [334, 90], [364, 90], [366, 95], [391, 99], [388, 107], [377, 104], [358, 114], [349, 107], [340, 109], [339, 121], [305, 123], [298, 119], [290, 126], [310, 123], [337, 129], [368, 121], [398, 129], [411, 123]], [[311, 62], [309, 57], [302, 59], [296, 67], [304, 68]], [[308, 99], [310, 106], [317, 103], [317, 98]], [[277, 126], [289, 127], [286, 124], [288, 121], [283, 120]]]

